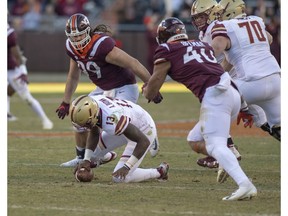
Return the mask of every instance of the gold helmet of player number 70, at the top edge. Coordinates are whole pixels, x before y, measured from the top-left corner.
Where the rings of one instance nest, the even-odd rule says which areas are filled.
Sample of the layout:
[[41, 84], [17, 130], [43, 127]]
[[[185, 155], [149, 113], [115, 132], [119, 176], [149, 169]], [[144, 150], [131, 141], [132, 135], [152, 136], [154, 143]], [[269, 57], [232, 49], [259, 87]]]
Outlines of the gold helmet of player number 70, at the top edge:
[[230, 20], [235, 17], [246, 17], [245, 2], [243, 0], [221, 0], [219, 5], [223, 8], [222, 20]]

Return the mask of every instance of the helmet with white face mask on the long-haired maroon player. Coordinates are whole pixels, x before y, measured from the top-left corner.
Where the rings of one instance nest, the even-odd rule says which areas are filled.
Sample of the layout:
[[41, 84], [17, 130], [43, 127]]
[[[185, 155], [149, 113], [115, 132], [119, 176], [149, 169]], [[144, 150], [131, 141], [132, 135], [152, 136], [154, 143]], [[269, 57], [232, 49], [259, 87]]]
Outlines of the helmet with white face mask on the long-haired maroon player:
[[90, 31], [89, 20], [83, 14], [72, 15], [66, 23], [66, 36], [76, 50], [82, 50], [89, 44], [91, 41]]

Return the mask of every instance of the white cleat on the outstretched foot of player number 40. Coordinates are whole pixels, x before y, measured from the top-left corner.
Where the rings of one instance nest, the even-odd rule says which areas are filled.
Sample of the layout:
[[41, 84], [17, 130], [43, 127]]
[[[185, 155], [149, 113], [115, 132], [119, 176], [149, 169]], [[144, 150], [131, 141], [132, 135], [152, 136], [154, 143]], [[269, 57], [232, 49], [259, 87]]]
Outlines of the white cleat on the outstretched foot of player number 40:
[[251, 184], [249, 187], [239, 187], [238, 190], [236, 190], [230, 196], [224, 197], [222, 200], [225, 201], [250, 200], [255, 196], [257, 196], [257, 189], [253, 184]]

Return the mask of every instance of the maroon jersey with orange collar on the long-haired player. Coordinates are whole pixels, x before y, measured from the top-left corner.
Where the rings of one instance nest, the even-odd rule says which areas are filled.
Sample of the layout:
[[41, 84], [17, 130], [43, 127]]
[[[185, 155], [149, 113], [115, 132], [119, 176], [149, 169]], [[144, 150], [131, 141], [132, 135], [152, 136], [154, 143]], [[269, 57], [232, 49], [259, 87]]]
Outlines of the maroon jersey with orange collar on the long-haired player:
[[68, 39], [66, 51], [95, 85], [103, 90], [111, 90], [136, 83], [136, 77], [132, 71], [105, 61], [105, 57], [115, 44], [111, 37], [95, 33], [83, 52], [75, 50]]

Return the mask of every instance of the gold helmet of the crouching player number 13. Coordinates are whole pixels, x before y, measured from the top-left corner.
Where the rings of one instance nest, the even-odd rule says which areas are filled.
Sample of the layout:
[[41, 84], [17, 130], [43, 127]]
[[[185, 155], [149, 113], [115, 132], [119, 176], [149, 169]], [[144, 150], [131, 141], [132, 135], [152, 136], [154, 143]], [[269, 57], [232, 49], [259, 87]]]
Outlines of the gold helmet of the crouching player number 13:
[[81, 95], [72, 101], [70, 113], [74, 126], [92, 128], [98, 122], [99, 106], [91, 97]]

